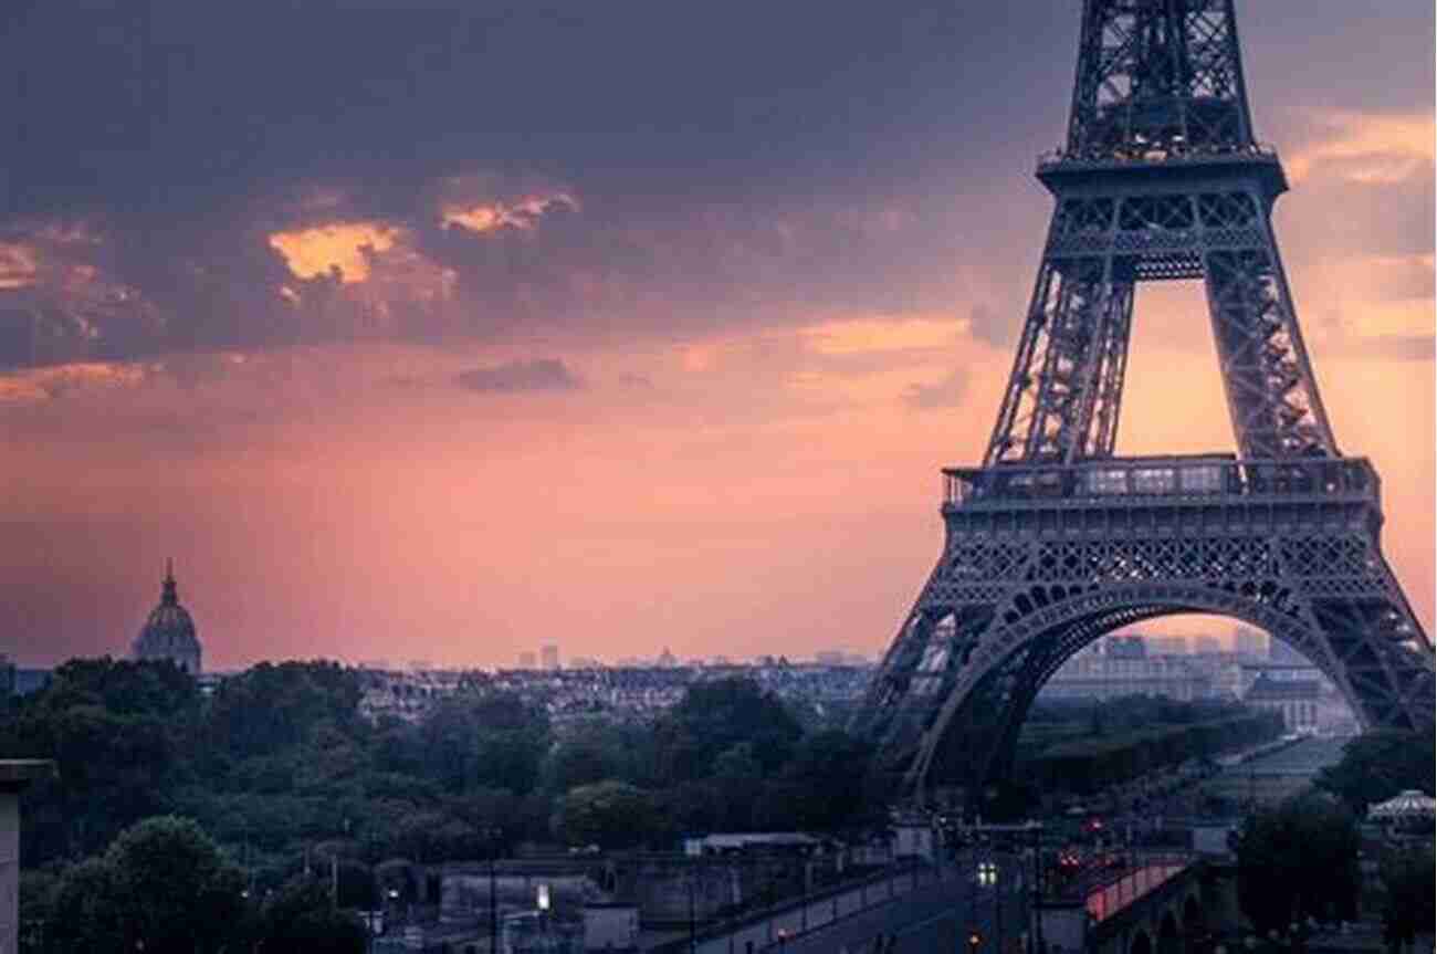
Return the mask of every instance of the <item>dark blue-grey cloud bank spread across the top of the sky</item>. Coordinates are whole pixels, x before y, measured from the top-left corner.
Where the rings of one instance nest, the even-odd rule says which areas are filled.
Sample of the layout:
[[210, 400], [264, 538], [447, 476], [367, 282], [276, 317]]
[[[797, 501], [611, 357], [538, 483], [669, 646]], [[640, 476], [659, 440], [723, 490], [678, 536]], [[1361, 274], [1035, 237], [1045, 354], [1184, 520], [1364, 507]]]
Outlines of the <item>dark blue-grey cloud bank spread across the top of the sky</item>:
[[[1296, 63], [1325, 70], [1323, 106], [1430, 109], [1430, 29], [1401, 26], [1430, 24], [1426, 4], [1275, 10], [1244, 7], [1252, 72], [1270, 75], [1256, 102]], [[1050, 0], [55, 0], [0, 17], [0, 241], [55, 223], [102, 239], [42, 247], [49, 283], [0, 290], [11, 365], [964, 299], [984, 303], [980, 338], [1007, 341], [1049, 213], [1015, 162], [1061, 135], [1078, 29]], [[1346, 60], [1290, 30], [1359, 34], [1420, 75], [1344, 98], [1326, 63]], [[438, 214], [558, 191], [576, 203], [491, 230]], [[359, 293], [296, 279], [267, 240], [336, 220], [387, 223], [412, 254], [374, 259], [384, 287]]]

